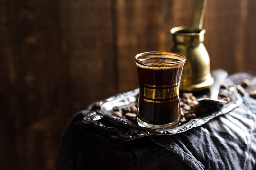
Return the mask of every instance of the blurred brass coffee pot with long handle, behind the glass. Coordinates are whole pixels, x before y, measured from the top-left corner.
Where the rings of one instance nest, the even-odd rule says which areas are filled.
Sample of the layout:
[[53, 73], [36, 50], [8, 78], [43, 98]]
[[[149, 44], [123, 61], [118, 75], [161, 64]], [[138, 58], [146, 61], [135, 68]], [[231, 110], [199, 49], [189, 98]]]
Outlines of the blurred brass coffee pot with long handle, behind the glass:
[[204, 90], [214, 82], [210, 73], [210, 58], [203, 44], [205, 29], [202, 26], [207, 0], [194, 2], [193, 26], [171, 29], [174, 42], [171, 52], [187, 58], [180, 82], [181, 91]]

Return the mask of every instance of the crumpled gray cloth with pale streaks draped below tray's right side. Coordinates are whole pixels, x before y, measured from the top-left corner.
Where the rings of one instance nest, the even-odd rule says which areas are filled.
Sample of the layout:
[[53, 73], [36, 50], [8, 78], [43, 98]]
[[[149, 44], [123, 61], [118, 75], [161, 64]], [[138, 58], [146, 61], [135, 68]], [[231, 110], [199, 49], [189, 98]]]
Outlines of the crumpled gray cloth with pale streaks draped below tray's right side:
[[252, 170], [256, 158], [256, 100], [173, 136], [151, 136], [194, 170]]

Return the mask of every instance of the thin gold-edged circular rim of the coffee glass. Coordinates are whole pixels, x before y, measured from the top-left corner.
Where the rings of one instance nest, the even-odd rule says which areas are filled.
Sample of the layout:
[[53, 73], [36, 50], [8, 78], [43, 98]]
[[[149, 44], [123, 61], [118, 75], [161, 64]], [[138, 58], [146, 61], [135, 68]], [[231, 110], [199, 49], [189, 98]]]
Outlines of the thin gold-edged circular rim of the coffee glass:
[[[178, 57], [181, 60], [174, 61], [174, 62], [166, 62], [166, 63], [157, 63], [157, 64], [155, 64], [155, 63], [149, 63], [149, 62], [141, 61], [141, 60], [137, 59], [138, 57], [141, 57], [141, 56], [152, 56], [152, 55], [159, 56], [159, 58], [161, 56], [173, 56], [173, 57]], [[150, 52], [139, 53], [134, 57], [134, 59], [135, 59], [135, 62], [137, 64], [140, 64], [140, 65], [153, 66], [153, 67], [165, 67], [165, 66], [172, 66], [172, 65], [177, 65], [177, 64], [183, 63], [183, 62], [185, 62], [186, 57], [182, 54], [178, 54], [178, 53], [174, 53], [174, 52], [150, 51]]]

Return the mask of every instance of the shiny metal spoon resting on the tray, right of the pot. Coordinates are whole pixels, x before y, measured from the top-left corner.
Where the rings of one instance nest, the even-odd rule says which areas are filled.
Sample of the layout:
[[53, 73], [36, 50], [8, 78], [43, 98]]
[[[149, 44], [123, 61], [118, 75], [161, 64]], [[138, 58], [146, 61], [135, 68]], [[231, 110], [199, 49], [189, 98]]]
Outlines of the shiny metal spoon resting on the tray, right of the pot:
[[228, 73], [223, 69], [217, 69], [212, 71], [211, 74], [214, 78], [214, 84], [210, 89], [209, 98], [200, 98], [200, 99], [197, 99], [197, 101], [207, 105], [219, 105], [219, 104], [227, 103], [227, 101], [219, 100], [218, 94], [219, 94], [220, 85], [222, 81], [228, 76]]

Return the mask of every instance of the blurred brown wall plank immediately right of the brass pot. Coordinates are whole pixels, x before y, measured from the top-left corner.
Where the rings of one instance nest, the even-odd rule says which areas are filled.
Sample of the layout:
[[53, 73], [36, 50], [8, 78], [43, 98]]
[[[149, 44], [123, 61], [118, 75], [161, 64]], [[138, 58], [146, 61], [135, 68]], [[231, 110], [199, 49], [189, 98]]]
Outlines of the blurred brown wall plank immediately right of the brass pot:
[[[242, 36], [240, 30], [237, 30], [240, 22], [240, 0], [233, 1], [208, 1], [204, 28], [205, 46], [210, 56], [211, 69], [224, 68], [229, 73], [234, 73], [238, 67], [239, 61], [236, 56], [243, 45], [237, 44], [239, 37]], [[239, 33], [239, 34], [238, 34]], [[237, 49], [240, 47], [239, 49]]]

